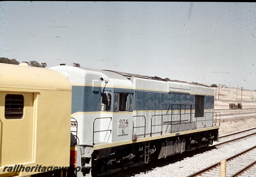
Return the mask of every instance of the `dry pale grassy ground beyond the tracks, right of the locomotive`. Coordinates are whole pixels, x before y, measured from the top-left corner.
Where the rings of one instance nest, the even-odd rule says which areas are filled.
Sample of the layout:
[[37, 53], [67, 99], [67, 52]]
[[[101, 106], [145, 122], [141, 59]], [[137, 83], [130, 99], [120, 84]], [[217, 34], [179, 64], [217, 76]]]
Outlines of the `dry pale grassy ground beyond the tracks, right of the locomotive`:
[[[243, 93], [243, 95], [241, 95], [241, 93]], [[225, 111], [221, 111], [221, 109], [229, 109], [229, 103], [242, 104], [243, 109], [233, 110], [234, 113], [256, 111], [256, 91], [254, 90], [243, 88], [242, 91], [241, 88], [216, 88], [214, 101], [214, 111], [220, 112], [221, 114], [225, 114]], [[256, 127], [256, 114], [229, 116], [228, 118], [221, 118], [219, 135], [229, 134], [252, 127]]]

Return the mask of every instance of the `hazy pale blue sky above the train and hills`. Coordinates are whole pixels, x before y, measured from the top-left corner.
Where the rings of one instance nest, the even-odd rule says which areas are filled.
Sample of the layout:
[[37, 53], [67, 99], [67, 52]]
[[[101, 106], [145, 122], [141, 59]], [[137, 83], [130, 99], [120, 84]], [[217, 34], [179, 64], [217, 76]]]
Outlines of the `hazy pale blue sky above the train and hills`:
[[0, 2], [0, 57], [256, 89], [256, 4]]

